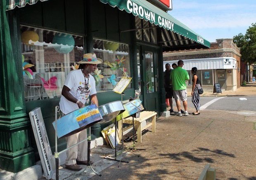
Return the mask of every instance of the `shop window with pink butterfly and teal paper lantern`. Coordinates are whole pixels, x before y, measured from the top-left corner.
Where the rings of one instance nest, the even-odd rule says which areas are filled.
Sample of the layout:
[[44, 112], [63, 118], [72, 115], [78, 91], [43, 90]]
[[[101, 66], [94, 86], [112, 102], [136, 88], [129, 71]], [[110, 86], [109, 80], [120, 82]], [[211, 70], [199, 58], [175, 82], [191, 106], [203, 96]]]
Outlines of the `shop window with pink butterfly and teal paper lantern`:
[[60, 97], [66, 75], [83, 58], [83, 37], [21, 26], [25, 100]]

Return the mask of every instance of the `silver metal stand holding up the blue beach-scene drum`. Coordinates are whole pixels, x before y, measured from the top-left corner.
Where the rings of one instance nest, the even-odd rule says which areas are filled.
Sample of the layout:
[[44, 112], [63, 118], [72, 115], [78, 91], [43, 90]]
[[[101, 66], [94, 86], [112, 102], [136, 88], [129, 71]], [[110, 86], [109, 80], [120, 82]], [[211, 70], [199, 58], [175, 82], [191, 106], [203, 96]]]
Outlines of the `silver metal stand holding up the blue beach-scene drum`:
[[89, 136], [86, 139], [84, 139], [84, 140], [82, 140], [82, 141], [80, 141], [76, 144], [73, 144], [71, 147], [68, 147], [68, 148], [62, 150], [61, 152], [58, 152], [58, 148], [57, 148], [57, 112], [59, 112], [59, 107], [58, 106], [55, 107], [55, 153], [54, 153], [54, 157], [55, 157], [55, 180], [59, 180], [59, 154], [71, 149], [72, 147], [77, 146], [78, 144], [80, 144], [80, 143], [82, 143], [86, 140], [88, 140], [88, 142], [87, 142], [87, 166], [90, 166], [90, 168], [92, 169], [92, 171], [95, 174], [97, 174], [99, 176], [102, 176], [101, 174], [97, 173], [92, 168], [92, 166], [90, 164], [91, 127], [89, 127]]

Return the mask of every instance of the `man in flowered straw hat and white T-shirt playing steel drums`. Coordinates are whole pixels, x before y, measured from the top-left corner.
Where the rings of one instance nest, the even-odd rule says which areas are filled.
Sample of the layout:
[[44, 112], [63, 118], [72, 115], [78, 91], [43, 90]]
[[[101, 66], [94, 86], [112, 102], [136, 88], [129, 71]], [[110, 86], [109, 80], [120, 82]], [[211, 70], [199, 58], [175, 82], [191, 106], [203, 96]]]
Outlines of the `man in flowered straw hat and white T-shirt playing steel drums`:
[[[97, 64], [100, 63], [102, 63], [102, 59], [97, 58], [95, 53], [84, 54], [83, 60], [78, 62], [80, 64], [79, 69], [73, 70], [67, 75], [59, 102], [59, 107], [63, 114], [69, 114], [76, 109], [85, 107], [85, 104], [89, 102], [89, 97], [91, 97], [91, 102], [98, 106], [95, 80], [90, 73], [93, 73], [97, 69]], [[86, 129], [66, 137], [67, 147], [86, 138]], [[72, 171], [80, 171], [82, 168], [78, 165], [87, 165], [87, 141], [67, 150], [66, 154], [65, 168]]]

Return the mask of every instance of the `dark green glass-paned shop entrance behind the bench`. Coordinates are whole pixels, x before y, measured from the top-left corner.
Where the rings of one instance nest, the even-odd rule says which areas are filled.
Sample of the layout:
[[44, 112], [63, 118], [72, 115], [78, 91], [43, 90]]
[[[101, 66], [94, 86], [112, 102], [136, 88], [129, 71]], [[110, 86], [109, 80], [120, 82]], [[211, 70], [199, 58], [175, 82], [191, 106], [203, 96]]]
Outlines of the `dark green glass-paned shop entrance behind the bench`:
[[155, 48], [137, 46], [138, 85], [147, 111], [159, 111], [158, 52]]

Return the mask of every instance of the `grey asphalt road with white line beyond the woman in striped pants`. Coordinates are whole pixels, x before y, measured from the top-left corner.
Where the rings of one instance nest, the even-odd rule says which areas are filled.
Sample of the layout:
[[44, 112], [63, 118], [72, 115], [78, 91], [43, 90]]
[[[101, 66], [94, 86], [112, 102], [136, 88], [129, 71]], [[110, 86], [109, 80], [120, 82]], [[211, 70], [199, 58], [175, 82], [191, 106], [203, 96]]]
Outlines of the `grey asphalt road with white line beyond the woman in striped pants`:
[[[191, 102], [192, 97], [188, 97], [188, 107], [193, 108]], [[203, 106], [207, 102], [218, 97], [200, 97], [200, 104]], [[246, 98], [247, 100], [239, 100], [239, 98]], [[174, 103], [175, 104], [175, 103]], [[219, 99], [213, 104], [209, 105], [206, 109], [220, 109], [230, 111], [256, 111], [256, 96], [243, 96], [243, 97], [224, 97]]]

